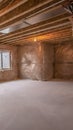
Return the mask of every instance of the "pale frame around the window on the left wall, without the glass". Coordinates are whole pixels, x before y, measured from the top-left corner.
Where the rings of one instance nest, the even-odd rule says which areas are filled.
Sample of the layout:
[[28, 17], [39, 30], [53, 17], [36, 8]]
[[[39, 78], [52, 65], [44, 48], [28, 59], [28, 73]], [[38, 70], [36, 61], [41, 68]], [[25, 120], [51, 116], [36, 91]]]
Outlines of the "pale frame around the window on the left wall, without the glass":
[[[3, 67], [3, 56], [2, 53], [8, 52], [9, 53], [9, 63], [10, 63], [10, 67], [9, 68], [4, 68]], [[11, 55], [11, 51], [10, 50], [0, 50], [1, 53], [1, 68], [0, 71], [8, 71], [8, 70], [12, 70], [12, 55]]]

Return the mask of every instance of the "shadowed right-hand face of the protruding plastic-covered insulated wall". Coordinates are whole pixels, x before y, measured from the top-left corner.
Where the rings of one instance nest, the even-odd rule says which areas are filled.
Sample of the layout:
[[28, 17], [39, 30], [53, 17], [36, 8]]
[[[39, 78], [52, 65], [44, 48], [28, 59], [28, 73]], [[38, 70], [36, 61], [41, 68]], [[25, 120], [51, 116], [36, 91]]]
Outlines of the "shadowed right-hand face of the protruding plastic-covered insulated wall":
[[50, 80], [54, 77], [54, 46], [50, 43], [43, 43], [43, 71], [42, 79]]

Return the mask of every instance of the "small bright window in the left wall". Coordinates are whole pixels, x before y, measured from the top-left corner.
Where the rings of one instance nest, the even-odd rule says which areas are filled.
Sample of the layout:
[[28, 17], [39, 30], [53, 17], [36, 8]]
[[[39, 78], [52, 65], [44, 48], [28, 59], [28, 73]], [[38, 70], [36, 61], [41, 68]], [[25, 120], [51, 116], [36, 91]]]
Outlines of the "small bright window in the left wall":
[[11, 68], [11, 54], [10, 51], [0, 51], [0, 69]]

